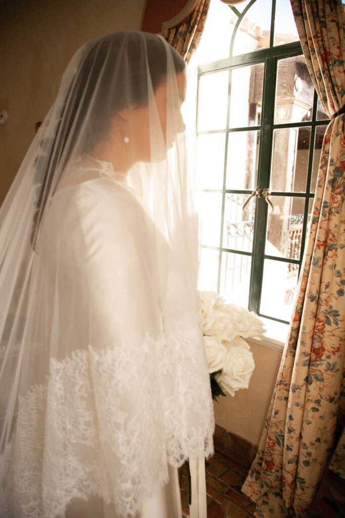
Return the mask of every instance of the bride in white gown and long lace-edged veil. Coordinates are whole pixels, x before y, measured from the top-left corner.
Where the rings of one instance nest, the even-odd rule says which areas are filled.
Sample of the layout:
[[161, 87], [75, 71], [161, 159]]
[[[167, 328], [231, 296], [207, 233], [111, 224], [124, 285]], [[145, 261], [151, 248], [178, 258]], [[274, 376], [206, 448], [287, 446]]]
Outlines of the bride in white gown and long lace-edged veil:
[[88, 42], [0, 209], [2, 518], [181, 518], [213, 453], [184, 95], [162, 38]]

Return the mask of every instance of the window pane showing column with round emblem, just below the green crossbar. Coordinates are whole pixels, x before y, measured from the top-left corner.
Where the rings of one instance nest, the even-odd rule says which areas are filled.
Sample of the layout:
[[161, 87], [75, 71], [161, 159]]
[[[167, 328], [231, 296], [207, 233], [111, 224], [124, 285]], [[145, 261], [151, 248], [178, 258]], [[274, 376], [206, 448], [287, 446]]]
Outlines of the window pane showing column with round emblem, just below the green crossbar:
[[304, 56], [278, 61], [275, 124], [310, 121], [314, 88]]

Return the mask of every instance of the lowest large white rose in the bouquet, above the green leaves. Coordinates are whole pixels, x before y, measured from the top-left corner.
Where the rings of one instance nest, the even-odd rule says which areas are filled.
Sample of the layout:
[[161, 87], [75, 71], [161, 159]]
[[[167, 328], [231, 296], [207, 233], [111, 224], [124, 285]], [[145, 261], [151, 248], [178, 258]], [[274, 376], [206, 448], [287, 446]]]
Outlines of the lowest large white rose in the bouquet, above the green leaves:
[[234, 396], [238, 389], [248, 389], [255, 364], [247, 348], [230, 345], [227, 349], [223, 371], [216, 375], [216, 381], [223, 391]]

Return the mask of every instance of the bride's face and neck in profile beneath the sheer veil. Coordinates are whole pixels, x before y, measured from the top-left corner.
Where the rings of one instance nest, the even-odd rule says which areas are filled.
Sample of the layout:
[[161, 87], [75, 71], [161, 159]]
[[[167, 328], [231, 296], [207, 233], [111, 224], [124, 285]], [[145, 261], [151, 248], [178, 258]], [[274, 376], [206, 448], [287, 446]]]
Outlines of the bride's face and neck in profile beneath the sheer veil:
[[[177, 88], [172, 88], [173, 94], [170, 93], [168, 81], [158, 85], [154, 94], [156, 109], [154, 106], [151, 108], [142, 106], [131, 110], [128, 137], [133, 143], [135, 148], [133, 151], [140, 162], [163, 160], [166, 150], [172, 147], [177, 133], [185, 129], [181, 113], [186, 91], [184, 72], [176, 75], [176, 84]], [[157, 121], [157, 114], [159, 121]]]

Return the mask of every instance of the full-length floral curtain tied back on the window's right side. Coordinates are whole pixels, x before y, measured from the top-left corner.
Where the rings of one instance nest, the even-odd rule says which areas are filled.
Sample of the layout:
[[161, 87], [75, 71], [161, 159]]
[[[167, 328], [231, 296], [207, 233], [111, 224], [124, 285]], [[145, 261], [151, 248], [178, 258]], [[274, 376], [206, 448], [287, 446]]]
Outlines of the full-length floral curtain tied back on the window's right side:
[[289, 338], [242, 491], [257, 504], [254, 516], [302, 518], [331, 460], [344, 395], [345, 34], [341, 0], [291, 5], [314, 86], [335, 117], [324, 136]]

